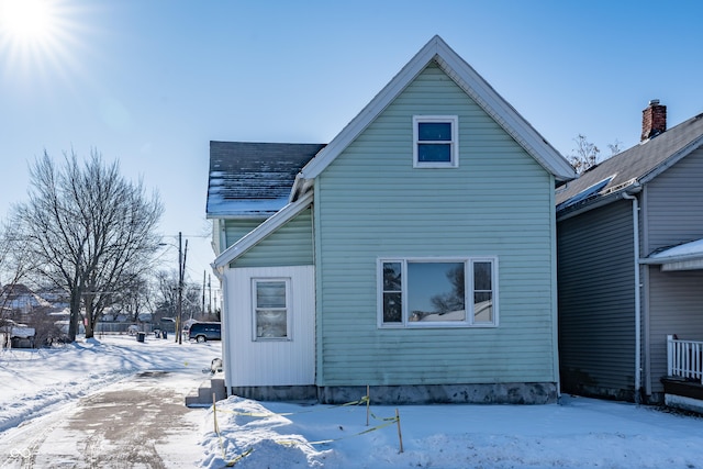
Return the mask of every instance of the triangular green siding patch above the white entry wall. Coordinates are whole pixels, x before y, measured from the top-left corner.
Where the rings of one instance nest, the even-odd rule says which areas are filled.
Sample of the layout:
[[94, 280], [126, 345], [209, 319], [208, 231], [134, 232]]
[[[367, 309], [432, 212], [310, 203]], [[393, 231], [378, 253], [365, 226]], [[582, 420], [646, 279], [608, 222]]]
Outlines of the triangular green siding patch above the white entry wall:
[[238, 257], [231, 267], [313, 265], [312, 210], [298, 216]]

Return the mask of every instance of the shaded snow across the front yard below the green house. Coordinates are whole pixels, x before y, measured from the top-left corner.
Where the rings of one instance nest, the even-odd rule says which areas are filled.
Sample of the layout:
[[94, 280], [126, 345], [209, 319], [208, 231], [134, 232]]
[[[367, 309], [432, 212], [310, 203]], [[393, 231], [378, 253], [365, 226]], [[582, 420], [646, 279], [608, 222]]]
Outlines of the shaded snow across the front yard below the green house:
[[[366, 406], [217, 403], [201, 467], [702, 468], [703, 418], [634, 404], [562, 398], [553, 405], [408, 405], [394, 422]], [[371, 406], [379, 417], [395, 407]], [[219, 434], [214, 431], [214, 417]], [[370, 432], [367, 432], [371, 429]], [[323, 443], [326, 442], [326, 443]]]

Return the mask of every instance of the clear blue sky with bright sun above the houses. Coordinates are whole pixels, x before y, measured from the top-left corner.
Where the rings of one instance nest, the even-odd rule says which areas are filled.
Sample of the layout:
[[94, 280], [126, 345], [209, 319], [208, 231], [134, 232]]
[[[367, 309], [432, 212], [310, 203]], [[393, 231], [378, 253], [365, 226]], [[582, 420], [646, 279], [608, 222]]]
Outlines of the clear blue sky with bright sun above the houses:
[[650, 99], [703, 112], [699, 1], [48, 3], [41, 37], [0, 18], [2, 217], [44, 149], [94, 148], [158, 190], [163, 233], [200, 234], [211, 139], [330, 142], [435, 34], [563, 155], [635, 145]]

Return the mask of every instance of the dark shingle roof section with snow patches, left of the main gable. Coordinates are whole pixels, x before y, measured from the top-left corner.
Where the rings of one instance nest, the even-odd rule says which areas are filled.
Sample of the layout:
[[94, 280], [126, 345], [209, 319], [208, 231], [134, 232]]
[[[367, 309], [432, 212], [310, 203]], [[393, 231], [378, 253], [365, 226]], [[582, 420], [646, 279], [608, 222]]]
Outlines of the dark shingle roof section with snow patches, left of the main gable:
[[324, 144], [210, 142], [208, 217], [269, 216]]

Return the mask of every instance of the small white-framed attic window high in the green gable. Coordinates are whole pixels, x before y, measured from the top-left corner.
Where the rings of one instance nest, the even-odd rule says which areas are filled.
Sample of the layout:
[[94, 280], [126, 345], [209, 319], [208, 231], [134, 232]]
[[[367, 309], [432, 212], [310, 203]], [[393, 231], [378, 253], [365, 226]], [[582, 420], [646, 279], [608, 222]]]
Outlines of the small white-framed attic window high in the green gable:
[[458, 121], [456, 115], [413, 116], [413, 167], [459, 166]]

